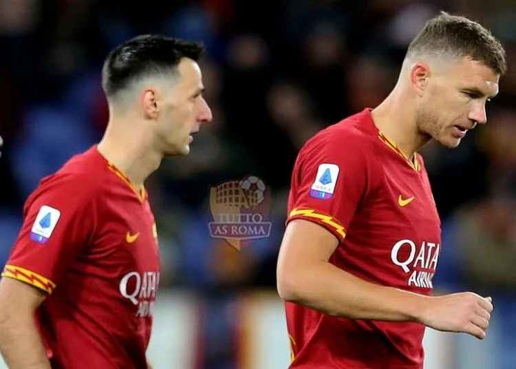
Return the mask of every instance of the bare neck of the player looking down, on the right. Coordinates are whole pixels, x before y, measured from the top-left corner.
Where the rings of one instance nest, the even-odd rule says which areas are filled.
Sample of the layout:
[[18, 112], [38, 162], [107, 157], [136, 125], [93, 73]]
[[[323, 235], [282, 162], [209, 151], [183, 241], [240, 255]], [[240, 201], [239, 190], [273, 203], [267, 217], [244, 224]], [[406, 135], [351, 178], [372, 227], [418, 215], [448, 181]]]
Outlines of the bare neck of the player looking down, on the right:
[[371, 114], [376, 127], [410, 160], [430, 140], [418, 130], [415, 105], [399, 88], [395, 88]]

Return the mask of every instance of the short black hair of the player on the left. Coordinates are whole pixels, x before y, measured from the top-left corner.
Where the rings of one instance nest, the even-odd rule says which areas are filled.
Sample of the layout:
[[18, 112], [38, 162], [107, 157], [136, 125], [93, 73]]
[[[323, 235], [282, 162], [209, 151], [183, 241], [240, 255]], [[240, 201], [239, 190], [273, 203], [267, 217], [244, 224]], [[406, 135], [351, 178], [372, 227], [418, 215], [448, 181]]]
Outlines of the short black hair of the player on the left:
[[102, 87], [110, 98], [133, 81], [175, 72], [181, 59], [198, 62], [203, 54], [204, 46], [193, 41], [159, 34], [136, 36], [109, 52], [102, 70]]

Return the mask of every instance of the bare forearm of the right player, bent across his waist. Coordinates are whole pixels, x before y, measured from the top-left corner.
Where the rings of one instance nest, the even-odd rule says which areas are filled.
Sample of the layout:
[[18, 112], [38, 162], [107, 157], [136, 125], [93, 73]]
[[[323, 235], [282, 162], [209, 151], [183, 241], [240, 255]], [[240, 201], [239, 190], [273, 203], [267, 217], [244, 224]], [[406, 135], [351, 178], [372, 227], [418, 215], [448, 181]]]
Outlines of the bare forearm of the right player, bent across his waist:
[[323, 261], [285, 280], [279, 284], [283, 299], [352, 319], [418, 321], [428, 298], [366, 282]]

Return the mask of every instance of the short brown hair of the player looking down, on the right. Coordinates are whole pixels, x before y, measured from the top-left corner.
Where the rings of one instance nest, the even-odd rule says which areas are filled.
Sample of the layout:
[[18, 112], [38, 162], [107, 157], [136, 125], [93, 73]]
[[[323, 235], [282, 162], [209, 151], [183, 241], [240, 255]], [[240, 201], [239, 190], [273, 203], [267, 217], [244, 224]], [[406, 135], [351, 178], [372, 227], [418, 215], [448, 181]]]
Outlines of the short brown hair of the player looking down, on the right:
[[430, 19], [407, 50], [407, 56], [430, 53], [470, 57], [500, 75], [507, 70], [504, 47], [489, 30], [447, 12]]

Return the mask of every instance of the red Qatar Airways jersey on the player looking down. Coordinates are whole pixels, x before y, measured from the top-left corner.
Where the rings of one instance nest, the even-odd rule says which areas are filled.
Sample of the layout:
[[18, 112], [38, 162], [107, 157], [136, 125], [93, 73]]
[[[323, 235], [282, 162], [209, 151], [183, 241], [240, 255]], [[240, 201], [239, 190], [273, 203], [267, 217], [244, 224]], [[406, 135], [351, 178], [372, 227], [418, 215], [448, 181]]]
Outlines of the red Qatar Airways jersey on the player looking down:
[[[316, 222], [338, 247], [330, 262], [368, 282], [430, 295], [440, 218], [420, 155], [406, 156], [369, 109], [323, 129], [297, 158], [288, 220]], [[332, 317], [286, 303], [290, 368], [420, 369], [424, 326]]]

